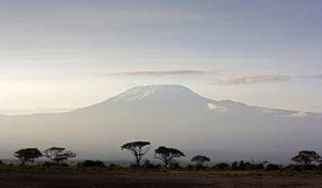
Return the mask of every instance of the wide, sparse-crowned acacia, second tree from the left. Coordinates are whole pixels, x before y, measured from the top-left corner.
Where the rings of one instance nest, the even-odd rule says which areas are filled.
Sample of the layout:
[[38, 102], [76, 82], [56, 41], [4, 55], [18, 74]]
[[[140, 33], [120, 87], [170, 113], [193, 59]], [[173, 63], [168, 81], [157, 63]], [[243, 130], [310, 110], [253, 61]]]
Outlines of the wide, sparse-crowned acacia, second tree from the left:
[[68, 158], [76, 157], [76, 153], [73, 153], [70, 150], [66, 150], [65, 148], [52, 147], [47, 150], [44, 150], [44, 153], [44, 156], [46, 158], [49, 158], [57, 164], [64, 160], [67, 160]]

